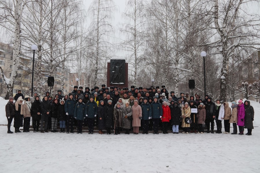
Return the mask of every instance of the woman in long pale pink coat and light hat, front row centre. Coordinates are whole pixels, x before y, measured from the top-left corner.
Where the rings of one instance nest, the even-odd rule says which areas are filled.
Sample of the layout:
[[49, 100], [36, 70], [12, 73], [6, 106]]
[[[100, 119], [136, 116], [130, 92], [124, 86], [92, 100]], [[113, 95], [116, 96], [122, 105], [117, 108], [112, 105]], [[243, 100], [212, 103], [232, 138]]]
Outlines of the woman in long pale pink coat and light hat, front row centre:
[[139, 133], [139, 127], [141, 126], [141, 119], [142, 119], [142, 108], [140, 105], [138, 105], [138, 100], [134, 101], [134, 105], [132, 106], [132, 112], [133, 112], [133, 132], [135, 135]]

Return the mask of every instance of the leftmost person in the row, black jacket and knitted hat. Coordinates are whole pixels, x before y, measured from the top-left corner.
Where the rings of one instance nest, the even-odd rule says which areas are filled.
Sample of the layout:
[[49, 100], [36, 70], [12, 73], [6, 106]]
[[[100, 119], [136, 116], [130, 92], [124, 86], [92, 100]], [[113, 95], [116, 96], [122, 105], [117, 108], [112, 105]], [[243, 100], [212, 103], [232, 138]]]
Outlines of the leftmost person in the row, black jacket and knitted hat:
[[7, 133], [14, 133], [10, 130], [14, 114], [15, 114], [14, 98], [12, 96], [10, 96], [9, 101], [5, 105], [5, 115], [6, 115], [6, 118], [7, 118], [7, 121], [8, 121]]

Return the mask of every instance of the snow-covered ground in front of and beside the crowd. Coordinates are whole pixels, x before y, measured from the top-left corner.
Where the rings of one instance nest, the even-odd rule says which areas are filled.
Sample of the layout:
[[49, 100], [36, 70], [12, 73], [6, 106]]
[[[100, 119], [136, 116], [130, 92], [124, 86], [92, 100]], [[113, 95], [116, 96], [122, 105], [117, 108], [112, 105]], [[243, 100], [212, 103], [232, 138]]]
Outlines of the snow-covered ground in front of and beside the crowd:
[[[7, 123], [3, 102], [0, 124]], [[259, 126], [259, 103], [251, 105]], [[7, 126], [0, 126], [0, 139], [0, 172], [260, 172], [260, 127], [240, 136], [7, 134]]]

